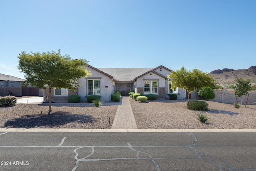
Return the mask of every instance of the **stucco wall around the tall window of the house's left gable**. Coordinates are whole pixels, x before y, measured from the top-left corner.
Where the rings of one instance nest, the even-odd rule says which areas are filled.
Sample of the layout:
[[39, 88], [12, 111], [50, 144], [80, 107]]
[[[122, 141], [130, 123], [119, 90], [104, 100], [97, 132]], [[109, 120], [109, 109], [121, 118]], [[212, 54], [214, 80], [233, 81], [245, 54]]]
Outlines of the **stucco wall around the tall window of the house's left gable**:
[[100, 100], [110, 101], [111, 94], [114, 93], [114, 83], [112, 78], [88, 66], [84, 67], [90, 71], [92, 75], [87, 78], [78, 79], [78, 84], [82, 85], [78, 87], [78, 95], [80, 95], [81, 101], [87, 100], [87, 80], [100, 80]]

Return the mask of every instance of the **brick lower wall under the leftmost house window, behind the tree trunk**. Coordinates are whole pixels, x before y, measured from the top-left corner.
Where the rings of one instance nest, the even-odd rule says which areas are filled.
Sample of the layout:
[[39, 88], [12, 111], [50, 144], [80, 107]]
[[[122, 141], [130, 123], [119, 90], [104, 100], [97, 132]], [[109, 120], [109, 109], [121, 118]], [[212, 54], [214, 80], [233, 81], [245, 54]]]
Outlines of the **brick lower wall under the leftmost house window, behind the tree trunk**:
[[[53, 102], [68, 102], [68, 97], [70, 95], [78, 95], [78, 91], [73, 91], [73, 90], [68, 90], [68, 95], [67, 96], [60, 96], [60, 95], [54, 95], [54, 89], [52, 88], [51, 92], [51, 101]], [[44, 101], [49, 101], [48, 100], [49, 96], [49, 89], [44, 89]]]

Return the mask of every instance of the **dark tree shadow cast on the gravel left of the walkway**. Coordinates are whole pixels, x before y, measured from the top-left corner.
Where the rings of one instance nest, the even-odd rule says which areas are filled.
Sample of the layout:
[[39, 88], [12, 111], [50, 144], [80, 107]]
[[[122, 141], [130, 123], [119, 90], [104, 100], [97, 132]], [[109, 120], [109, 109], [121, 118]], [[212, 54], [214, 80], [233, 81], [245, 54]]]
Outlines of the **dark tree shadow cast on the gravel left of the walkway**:
[[98, 121], [92, 116], [76, 115], [69, 112], [54, 112], [51, 114], [24, 115], [20, 118], [7, 121], [2, 128], [38, 128], [38, 127], [59, 127], [66, 123], [94, 123]]

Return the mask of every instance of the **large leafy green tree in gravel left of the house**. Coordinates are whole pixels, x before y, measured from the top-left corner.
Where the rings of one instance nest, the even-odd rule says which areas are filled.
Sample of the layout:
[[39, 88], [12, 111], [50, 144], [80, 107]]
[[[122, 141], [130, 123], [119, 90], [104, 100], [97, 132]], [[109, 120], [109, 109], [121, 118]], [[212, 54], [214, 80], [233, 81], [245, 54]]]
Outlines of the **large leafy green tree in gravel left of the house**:
[[25, 73], [25, 78], [30, 85], [39, 88], [49, 88], [49, 113], [51, 107], [51, 91], [55, 88], [68, 88], [76, 91], [79, 87], [78, 78], [90, 75], [86, 68], [85, 59], [72, 60], [69, 55], [62, 56], [57, 52], [21, 52], [18, 56], [18, 69]]

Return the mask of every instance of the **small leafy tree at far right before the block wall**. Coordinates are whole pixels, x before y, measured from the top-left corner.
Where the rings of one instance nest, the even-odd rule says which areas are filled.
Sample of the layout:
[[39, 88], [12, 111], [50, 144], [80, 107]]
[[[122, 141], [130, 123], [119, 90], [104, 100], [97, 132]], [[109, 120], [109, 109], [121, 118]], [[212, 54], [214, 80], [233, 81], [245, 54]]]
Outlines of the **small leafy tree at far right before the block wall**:
[[244, 80], [243, 78], [236, 78], [235, 80], [235, 96], [241, 97], [241, 106], [243, 105], [243, 95], [248, 94], [252, 88], [251, 80]]

